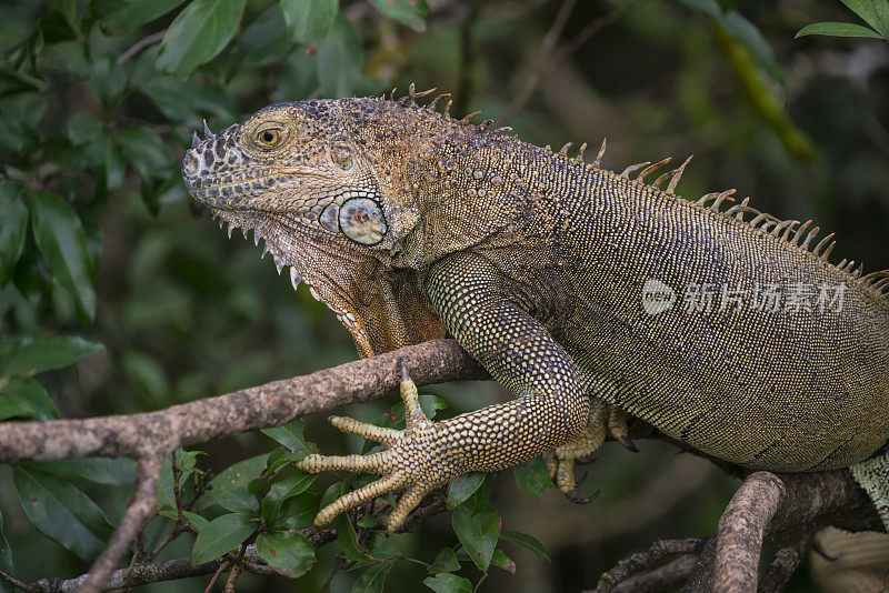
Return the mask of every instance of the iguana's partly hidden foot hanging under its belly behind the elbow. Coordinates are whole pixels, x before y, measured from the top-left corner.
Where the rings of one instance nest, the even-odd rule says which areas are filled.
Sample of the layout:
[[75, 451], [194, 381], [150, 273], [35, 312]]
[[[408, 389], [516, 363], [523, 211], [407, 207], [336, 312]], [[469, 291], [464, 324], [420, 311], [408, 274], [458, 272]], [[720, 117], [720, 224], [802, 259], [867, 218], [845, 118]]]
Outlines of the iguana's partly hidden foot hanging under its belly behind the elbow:
[[[608, 434], [630, 451], [639, 451], [636, 443], [628, 436], [628, 420], [629, 416], [622, 410], [593, 399], [587, 430], [583, 434], [569, 443], [557, 446], [552, 458], [547, 460], [550, 478], [569, 501], [586, 504], [596, 497], [596, 494], [585, 496], [577, 492], [579, 481], [575, 478], [575, 464], [586, 463], [585, 458], [595, 453]], [[582, 480], [583, 478], [580, 481]]]

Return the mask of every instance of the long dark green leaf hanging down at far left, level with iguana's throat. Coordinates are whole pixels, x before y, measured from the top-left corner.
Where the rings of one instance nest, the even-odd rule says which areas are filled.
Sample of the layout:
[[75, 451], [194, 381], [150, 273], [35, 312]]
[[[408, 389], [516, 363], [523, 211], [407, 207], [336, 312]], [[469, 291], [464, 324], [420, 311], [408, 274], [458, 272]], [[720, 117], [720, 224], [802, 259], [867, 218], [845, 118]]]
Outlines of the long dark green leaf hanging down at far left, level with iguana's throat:
[[53, 278], [74, 300], [82, 322], [96, 318], [96, 264], [83, 224], [71, 205], [41, 190], [31, 191], [31, 225]]

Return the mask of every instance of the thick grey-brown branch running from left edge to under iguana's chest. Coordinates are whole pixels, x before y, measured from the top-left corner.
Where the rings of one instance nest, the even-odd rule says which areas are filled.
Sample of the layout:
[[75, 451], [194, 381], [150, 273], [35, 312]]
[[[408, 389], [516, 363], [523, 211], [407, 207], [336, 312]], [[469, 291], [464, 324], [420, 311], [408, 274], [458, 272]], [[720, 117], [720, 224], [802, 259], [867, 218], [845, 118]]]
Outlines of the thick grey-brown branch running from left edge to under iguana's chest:
[[294, 418], [394, 390], [398, 360], [419, 385], [487, 376], [453, 340], [432, 340], [370, 359], [274, 381], [166, 410], [132, 415], [0, 423], [0, 462], [88, 455], [136, 459], [168, 453], [237, 432], [284, 424]]

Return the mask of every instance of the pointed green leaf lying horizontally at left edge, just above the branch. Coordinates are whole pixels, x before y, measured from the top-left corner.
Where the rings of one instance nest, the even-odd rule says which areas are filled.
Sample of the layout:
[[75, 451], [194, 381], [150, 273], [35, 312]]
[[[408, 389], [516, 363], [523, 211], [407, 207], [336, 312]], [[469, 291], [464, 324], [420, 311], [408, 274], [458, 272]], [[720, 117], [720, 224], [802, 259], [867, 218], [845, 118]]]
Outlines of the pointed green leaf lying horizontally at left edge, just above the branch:
[[102, 344], [77, 335], [14, 340], [0, 345], [0, 376], [62, 369], [84, 354], [103, 351]]

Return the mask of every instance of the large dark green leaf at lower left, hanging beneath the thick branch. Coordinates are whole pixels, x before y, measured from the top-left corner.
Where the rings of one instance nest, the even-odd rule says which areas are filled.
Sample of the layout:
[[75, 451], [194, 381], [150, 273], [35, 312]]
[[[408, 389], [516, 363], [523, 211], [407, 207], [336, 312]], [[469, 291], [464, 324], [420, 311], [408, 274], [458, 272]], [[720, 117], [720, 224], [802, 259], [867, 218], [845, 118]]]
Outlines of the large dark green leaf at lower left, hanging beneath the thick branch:
[[12, 479], [24, 513], [47, 537], [83, 560], [104, 549], [111, 527], [102, 510], [83, 492], [63, 480], [23, 468], [13, 468]]

